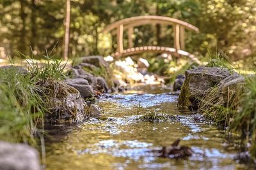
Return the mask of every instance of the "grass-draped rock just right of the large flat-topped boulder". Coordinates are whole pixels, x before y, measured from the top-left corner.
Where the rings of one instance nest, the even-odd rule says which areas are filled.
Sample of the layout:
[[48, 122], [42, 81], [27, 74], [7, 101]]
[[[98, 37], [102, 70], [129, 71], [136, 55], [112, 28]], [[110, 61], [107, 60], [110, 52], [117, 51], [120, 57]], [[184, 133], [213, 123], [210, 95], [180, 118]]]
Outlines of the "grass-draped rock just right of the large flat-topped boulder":
[[[218, 115], [218, 117], [221, 115], [225, 117], [226, 114], [223, 114], [221, 108], [227, 106], [234, 110], [238, 108], [239, 99], [245, 91], [244, 84], [244, 77], [237, 73], [227, 76], [216, 87], [205, 92], [198, 103], [198, 110], [200, 113], [211, 113], [212, 115]], [[220, 129], [223, 129], [227, 122], [229, 122], [227, 118], [220, 118], [218, 120]]]

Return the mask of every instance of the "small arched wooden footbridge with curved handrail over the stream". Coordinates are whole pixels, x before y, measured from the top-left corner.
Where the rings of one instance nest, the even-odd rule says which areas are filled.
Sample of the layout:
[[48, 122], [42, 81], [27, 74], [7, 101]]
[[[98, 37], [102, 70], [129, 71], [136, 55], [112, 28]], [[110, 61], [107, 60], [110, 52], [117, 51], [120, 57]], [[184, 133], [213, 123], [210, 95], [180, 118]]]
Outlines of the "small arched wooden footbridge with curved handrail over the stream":
[[[132, 34], [134, 32], [134, 27], [147, 24], [165, 24], [173, 25], [173, 41], [174, 47], [165, 47], [165, 46], [133, 46]], [[199, 29], [194, 25], [170, 17], [162, 16], [140, 16], [140, 17], [131, 17], [125, 18], [123, 20], [118, 20], [113, 24], [108, 25], [103, 32], [111, 32], [112, 35], [116, 34], [117, 38], [117, 50], [112, 54], [113, 57], [123, 57], [127, 55], [134, 55], [136, 53], [142, 52], [165, 52], [165, 53], [177, 53], [179, 55], [186, 55], [189, 58], [198, 62], [198, 60], [192, 55], [184, 50], [185, 48], [185, 29], [198, 32]], [[129, 48], [124, 49], [123, 39], [124, 31], [128, 31], [128, 45]]]

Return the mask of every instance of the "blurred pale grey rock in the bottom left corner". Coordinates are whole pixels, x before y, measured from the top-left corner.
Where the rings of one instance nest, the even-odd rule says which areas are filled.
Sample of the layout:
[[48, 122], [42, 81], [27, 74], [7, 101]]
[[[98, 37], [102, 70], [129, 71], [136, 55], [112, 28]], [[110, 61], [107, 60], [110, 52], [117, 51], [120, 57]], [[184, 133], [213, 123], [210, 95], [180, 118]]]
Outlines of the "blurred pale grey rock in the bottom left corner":
[[0, 169], [40, 170], [38, 152], [28, 145], [0, 141]]

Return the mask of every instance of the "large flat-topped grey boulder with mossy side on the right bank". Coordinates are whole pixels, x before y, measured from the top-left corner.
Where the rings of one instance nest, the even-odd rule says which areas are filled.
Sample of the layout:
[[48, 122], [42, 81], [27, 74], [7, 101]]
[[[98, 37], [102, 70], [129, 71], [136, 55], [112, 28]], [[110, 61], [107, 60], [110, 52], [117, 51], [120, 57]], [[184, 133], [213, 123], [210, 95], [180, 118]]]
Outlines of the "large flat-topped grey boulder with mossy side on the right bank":
[[223, 67], [198, 67], [185, 72], [178, 106], [197, 108], [198, 99], [232, 73]]

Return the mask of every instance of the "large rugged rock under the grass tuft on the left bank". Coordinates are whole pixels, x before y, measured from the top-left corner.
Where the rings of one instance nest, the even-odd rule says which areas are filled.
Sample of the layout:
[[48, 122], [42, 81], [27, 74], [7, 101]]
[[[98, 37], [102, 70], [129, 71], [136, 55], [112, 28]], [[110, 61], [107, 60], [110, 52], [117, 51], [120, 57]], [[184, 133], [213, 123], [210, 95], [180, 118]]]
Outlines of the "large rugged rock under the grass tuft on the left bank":
[[42, 80], [38, 85], [45, 94], [48, 110], [44, 117], [45, 123], [80, 122], [87, 117], [87, 104], [74, 87], [55, 80]]

